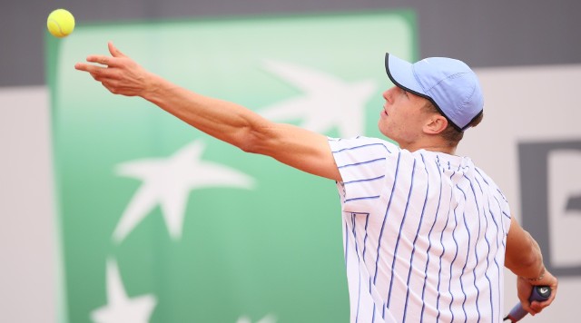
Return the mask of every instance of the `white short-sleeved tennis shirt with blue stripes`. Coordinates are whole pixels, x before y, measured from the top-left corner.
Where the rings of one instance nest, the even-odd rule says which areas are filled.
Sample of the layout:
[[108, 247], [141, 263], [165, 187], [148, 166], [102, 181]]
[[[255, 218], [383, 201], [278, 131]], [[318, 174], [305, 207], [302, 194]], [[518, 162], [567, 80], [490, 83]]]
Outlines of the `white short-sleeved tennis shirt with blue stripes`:
[[501, 322], [508, 203], [467, 157], [332, 139], [351, 322]]

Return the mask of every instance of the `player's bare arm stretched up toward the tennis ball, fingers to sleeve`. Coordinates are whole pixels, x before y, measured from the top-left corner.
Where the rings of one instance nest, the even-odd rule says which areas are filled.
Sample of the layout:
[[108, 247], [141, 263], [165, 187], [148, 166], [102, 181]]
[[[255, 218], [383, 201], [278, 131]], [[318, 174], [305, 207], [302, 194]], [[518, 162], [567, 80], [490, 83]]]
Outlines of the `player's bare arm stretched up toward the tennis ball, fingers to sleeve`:
[[271, 156], [300, 171], [341, 181], [324, 135], [290, 124], [270, 122], [239, 104], [188, 91], [149, 73], [113, 43], [108, 46], [111, 56], [90, 55], [87, 57], [90, 64], [78, 63], [74, 67], [91, 73], [111, 93], [141, 96], [183, 122], [244, 152]]

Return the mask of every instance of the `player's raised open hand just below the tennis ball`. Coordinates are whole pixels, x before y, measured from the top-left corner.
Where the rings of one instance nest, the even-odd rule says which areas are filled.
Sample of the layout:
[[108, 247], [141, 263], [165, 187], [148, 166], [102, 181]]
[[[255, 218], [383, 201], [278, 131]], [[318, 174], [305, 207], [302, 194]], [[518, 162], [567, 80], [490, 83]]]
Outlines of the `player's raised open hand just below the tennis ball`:
[[[139, 64], [136, 64], [127, 55], [121, 53], [113, 43], [108, 43], [109, 53], [106, 55], [89, 55], [87, 62], [96, 64], [77, 63], [74, 68], [88, 72], [93, 78], [113, 94], [127, 96], [143, 96], [143, 93], [152, 91], [152, 75]], [[104, 66], [103, 66], [104, 65]]]

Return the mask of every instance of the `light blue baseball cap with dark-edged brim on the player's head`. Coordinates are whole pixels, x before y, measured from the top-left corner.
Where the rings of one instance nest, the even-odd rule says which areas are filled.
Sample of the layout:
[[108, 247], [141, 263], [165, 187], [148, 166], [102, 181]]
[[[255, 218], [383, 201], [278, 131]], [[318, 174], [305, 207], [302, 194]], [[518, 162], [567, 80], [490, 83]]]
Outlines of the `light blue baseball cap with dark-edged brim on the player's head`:
[[478, 77], [462, 61], [429, 57], [411, 64], [388, 53], [385, 69], [391, 82], [428, 99], [459, 131], [482, 113], [484, 97]]

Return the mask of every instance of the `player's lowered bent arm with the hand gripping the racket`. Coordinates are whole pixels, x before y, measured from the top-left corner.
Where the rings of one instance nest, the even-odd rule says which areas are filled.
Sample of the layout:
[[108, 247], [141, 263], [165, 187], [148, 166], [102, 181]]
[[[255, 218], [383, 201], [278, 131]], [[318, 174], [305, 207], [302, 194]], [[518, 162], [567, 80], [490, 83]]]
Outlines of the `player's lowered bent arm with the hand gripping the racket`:
[[[517, 275], [518, 299], [528, 313], [535, 315], [549, 306], [556, 296], [557, 280], [543, 264], [537, 241], [513, 217], [507, 235], [505, 266]], [[544, 302], [528, 301], [533, 286], [548, 286], [551, 296]]]

